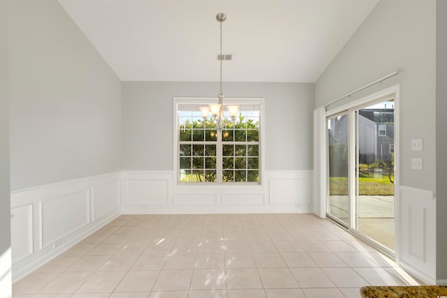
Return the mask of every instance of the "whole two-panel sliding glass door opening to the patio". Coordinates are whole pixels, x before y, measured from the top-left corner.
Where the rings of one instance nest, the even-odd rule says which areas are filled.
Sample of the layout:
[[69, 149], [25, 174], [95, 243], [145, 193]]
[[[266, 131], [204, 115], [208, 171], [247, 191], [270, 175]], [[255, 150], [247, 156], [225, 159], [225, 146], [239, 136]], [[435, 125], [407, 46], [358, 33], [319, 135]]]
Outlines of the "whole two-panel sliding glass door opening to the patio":
[[330, 218], [395, 251], [395, 99], [327, 117]]

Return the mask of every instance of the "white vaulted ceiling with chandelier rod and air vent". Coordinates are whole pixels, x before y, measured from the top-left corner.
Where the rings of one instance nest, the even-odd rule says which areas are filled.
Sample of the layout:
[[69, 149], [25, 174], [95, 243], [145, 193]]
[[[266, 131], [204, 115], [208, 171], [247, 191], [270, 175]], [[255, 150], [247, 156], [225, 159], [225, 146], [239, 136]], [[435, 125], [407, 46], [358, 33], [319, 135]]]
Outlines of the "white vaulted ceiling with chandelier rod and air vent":
[[59, 0], [123, 81], [316, 82], [379, 0]]

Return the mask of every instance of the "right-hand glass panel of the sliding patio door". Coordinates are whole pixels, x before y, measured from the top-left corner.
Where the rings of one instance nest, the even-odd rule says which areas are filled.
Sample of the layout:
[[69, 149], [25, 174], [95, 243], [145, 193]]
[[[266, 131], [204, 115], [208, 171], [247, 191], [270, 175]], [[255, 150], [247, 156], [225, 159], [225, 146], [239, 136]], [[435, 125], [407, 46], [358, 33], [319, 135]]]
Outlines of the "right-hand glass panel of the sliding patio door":
[[356, 230], [394, 251], [394, 100], [355, 113]]

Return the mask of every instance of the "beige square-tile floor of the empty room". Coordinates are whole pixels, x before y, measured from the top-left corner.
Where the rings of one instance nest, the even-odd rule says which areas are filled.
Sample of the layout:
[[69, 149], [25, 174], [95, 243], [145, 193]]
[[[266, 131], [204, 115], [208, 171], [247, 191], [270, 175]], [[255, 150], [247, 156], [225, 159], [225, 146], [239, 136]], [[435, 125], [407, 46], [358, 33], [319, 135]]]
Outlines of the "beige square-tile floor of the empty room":
[[14, 298], [360, 297], [418, 285], [313, 214], [122, 215], [13, 285]]

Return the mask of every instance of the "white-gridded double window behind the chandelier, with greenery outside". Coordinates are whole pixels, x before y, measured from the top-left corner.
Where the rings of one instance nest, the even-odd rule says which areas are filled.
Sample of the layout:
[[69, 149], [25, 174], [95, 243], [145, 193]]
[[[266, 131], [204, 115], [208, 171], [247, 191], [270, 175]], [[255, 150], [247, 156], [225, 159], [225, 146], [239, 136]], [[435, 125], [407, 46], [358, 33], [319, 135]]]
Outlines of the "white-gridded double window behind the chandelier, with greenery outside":
[[202, 118], [199, 107], [215, 100], [176, 100], [177, 181], [179, 184], [260, 184], [262, 100], [234, 100], [240, 106], [231, 121], [224, 112], [219, 132], [212, 117]]

